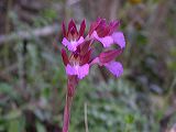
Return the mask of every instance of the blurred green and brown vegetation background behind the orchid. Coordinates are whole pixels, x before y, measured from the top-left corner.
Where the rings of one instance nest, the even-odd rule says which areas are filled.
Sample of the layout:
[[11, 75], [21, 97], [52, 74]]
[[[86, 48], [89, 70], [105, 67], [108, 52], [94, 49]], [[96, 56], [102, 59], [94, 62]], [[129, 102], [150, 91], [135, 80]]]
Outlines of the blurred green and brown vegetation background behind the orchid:
[[61, 132], [66, 76], [61, 23], [120, 20], [127, 48], [114, 78], [80, 81], [70, 132], [169, 132], [176, 123], [175, 0], [0, 0], [0, 132]]

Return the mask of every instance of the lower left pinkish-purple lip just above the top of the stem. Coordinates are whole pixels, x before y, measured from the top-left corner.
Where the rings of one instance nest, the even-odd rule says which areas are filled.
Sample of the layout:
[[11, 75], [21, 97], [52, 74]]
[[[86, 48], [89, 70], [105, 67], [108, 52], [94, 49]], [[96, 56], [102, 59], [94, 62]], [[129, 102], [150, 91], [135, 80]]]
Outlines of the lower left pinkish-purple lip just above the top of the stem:
[[69, 64], [66, 66], [67, 75], [77, 75], [79, 79], [82, 79], [85, 76], [89, 74], [89, 65], [85, 64], [82, 66], [76, 65], [70, 66]]

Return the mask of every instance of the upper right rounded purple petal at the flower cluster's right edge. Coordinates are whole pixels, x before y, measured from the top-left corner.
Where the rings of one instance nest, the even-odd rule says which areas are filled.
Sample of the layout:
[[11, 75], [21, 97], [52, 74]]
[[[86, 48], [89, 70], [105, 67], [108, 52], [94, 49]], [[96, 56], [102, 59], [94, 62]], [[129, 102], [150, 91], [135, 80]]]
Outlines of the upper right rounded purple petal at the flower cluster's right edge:
[[122, 32], [114, 32], [112, 35], [113, 42], [118, 44], [121, 48], [125, 47], [125, 40]]

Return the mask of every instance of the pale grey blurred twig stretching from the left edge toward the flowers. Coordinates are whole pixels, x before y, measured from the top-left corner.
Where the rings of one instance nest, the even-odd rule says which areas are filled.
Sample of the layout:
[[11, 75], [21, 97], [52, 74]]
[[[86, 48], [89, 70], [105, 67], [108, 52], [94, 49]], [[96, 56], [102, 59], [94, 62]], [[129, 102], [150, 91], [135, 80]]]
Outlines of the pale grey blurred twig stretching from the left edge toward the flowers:
[[0, 45], [15, 40], [30, 40], [33, 37], [48, 36], [59, 31], [58, 24], [44, 26], [36, 30], [14, 32], [9, 35], [0, 35]]

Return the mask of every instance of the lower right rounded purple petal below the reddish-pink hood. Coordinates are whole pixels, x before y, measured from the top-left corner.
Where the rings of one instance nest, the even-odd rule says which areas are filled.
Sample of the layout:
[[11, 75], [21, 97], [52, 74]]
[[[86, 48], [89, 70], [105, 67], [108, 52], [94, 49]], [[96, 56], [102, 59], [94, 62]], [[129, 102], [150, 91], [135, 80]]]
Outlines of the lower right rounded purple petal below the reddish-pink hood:
[[110, 62], [103, 64], [116, 77], [120, 77], [123, 74], [123, 66], [119, 62]]

